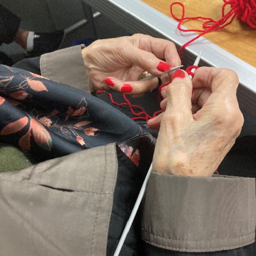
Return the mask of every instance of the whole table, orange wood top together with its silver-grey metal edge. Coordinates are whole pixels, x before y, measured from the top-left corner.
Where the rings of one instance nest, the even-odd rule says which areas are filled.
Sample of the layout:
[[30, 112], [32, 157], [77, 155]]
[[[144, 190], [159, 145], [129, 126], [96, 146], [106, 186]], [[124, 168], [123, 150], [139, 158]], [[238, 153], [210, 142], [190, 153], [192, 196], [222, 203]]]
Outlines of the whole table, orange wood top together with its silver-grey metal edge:
[[[193, 32], [183, 33], [177, 30], [178, 23], [169, 14], [170, 4], [174, 0], [83, 1], [130, 33], [166, 38], [173, 41], [177, 48], [196, 36]], [[182, 0], [182, 2], [186, 10], [190, 10], [186, 16], [195, 16], [198, 10], [204, 10], [201, 16], [211, 18], [216, 18], [216, 15], [221, 16], [218, 8], [219, 5], [222, 6], [222, 0]], [[209, 2], [212, 3], [211, 9], [206, 6]], [[176, 15], [179, 16], [179, 9], [174, 11], [175, 13], [177, 11]], [[186, 23], [188, 27], [195, 25], [200, 24], [198, 21], [190, 25]], [[237, 72], [240, 82], [237, 93], [240, 108], [256, 117], [256, 30], [237, 20], [231, 26], [225, 31], [211, 32], [206, 36], [207, 39], [201, 37], [188, 46], [184, 51], [183, 65], [192, 65], [197, 54], [202, 50], [200, 66], [227, 67]], [[241, 31], [244, 33], [242, 36]]]

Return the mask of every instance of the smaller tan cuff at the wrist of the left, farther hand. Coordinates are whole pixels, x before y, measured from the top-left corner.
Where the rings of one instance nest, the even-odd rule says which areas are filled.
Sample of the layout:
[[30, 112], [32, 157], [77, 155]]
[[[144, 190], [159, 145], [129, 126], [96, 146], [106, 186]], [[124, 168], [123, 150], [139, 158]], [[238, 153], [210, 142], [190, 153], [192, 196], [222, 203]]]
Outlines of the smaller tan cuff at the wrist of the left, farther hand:
[[40, 58], [42, 76], [90, 93], [81, 53], [84, 47], [84, 45], [73, 46], [42, 55]]

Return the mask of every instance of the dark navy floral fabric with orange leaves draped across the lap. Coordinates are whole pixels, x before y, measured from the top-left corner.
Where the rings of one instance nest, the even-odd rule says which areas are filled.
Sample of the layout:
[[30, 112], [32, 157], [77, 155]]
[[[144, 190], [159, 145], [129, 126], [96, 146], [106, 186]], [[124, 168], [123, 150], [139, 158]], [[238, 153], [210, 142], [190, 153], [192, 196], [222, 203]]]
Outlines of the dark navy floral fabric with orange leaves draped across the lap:
[[4, 65], [0, 65], [0, 142], [44, 159], [116, 143], [137, 166], [154, 150], [153, 138], [144, 127], [104, 101]]

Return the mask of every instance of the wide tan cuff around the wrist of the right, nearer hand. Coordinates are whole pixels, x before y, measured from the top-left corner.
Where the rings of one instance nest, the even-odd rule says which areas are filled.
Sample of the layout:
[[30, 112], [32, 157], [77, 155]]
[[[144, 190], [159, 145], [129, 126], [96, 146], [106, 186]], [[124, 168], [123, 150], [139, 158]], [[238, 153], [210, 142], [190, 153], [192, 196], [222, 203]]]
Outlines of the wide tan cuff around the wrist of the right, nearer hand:
[[142, 239], [181, 252], [235, 249], [255, 241], [254, 178], [185, 177], [153, 172], [142, 215]]

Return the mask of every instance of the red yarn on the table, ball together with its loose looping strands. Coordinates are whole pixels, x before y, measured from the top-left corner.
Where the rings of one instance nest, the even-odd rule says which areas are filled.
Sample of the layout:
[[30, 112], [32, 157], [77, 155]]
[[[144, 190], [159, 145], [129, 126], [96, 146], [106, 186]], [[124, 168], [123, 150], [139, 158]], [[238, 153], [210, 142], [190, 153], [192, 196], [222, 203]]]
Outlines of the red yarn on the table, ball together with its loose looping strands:
[[[256, 0], [223, 0], [224, 4], [222, 6], [222, 18], [219, 20], [214, 20], [212, 18], [206, 18], [206, 17], [187, 17], [185, 16], [185, 7], [183, 3], [180, 2], [174, 2], [170, 6], [170, 12], [174, 19], [179, 21], [178, 29], [183, 32], [199, 32], [200, 34], [185, 43], [183, 46], [180, 47], [179, 55], [181, 56], [182, 50], [188, 46], [190, 43], [195, 41], [197, 38], [203, 36], [206, 33], [209, 33], [214, 30], [220, 30], [223, 27], [228, 26], [232, 23], [234, 18], [241, 19], [243, 22], [246, 22], [249, 26], [256, 28]], [[173, 6], [175, 4], [178, 4], [182, 7], [182, 16], [181, 18], [178, 18], [173, 13]], [[225, 8], [227, 5], [230, 5], [231, 9], [225, 13]], [[181, 28], [181, 25], [183, 21], [185, 20], [192, 20], [192, 19], [202, 19], [205, 20], [202, 24], [203, 29], [183, 29]]]

